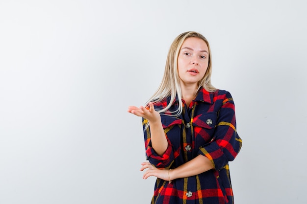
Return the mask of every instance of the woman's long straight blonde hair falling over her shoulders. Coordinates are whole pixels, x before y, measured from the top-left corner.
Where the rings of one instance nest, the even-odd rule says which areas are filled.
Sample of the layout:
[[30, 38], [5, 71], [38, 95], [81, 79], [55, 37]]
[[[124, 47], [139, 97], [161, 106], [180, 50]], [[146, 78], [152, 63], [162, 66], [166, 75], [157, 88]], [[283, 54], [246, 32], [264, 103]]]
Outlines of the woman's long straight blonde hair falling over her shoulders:
[[[145, 104], [147, 106], [149, 102], [155, 103], [155, 102], [158, 102], [158, 101], [161, 101], [167, 98], [168, 96], [171, 96], [170, 103], [167, 104], [167, 106], [164, 109], [156, 110], [159, 113], [166, 113], [166, 112], [173, 113], [172, 115], [174, 117], [177, 117], [182, 113], [182, 101], [181, 101], [182, 96], [181, 96], [181, 89], [179, 85], [179, 73], [178, 73], [177, 60], [178, 60], [181, 45], [183, 44], [185, 39], [191, 38], [191, 37], [196, 37], [196, 38], [204, 40], [209, 49], [208, 50], [209, 51], [208, 68], [205, 72], [204, 77], [199, 81], [198, 90], [201, 87], [204, 87], [204, 89], [209, 92], [216, 90], [211, 85], [211, 69], [212, 69], [211, 68], [211, 64], [212, 64], [211, 63], [211, 50], [210, 50], [210, 46], [209, 46], [207, 39], [205, 39], [205, 37], [202, 34], [193, 32], [193, 31], [181, 33], [174, 40], [174, 42], [172, 43], [168, 51], [162, 82], [160, 83], [157, 91], [153, 93], [153, 96]], [[178, 96], [178, 99], [179, 99], [179, 108], [176, 111], [170, 112], [168, 111], [168, 109], [172, 106], [176, 98], [176, 95]]]

